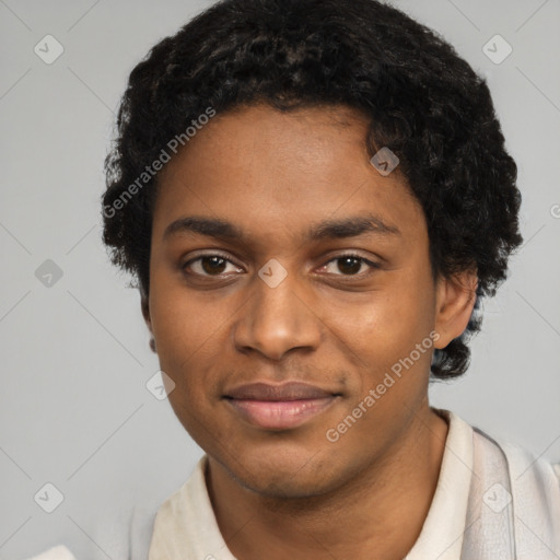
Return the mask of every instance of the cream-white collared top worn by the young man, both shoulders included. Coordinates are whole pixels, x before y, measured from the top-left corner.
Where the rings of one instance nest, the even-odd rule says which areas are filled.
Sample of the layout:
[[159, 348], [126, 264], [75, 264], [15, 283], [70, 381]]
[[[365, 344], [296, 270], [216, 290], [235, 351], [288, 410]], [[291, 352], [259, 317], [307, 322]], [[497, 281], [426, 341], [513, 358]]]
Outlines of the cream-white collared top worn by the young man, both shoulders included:
[[[559, 560], [560, 466], [436, 412], [448, 423], [438, 486], [405, 560]], [[236, 560], [210, 503], [207, 460], [159, 508], [137, 506], [128, 521], [105, 523], [119, 535], [106, 549], [113, 560]], [[30, 560], [75, 559], [60, 546]]]

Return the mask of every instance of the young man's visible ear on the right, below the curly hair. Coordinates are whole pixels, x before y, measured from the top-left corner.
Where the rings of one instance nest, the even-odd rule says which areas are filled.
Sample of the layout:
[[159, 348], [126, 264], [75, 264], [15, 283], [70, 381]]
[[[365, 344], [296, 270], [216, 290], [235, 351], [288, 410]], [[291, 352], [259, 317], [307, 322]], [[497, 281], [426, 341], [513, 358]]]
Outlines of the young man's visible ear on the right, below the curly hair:
[[477, 300], [478, 276], [466, 270], [450, 278], [440, 277], [436, 288], [435, 348], [445, 348], [467, 328]]

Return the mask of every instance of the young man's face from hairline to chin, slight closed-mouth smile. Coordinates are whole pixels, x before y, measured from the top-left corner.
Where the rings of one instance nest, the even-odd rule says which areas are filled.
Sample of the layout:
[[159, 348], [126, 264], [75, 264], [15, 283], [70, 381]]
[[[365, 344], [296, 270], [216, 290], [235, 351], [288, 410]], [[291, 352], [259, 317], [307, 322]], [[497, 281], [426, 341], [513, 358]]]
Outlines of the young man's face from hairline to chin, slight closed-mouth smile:
[[468, 320], [440, 314], [422, 209], [365, 137], [349, 108], [236, 109], [161, 175], [145, 317], [170, 402], [264, 494], [319, 494], [383, 460], [427, 408], [433, 348]]

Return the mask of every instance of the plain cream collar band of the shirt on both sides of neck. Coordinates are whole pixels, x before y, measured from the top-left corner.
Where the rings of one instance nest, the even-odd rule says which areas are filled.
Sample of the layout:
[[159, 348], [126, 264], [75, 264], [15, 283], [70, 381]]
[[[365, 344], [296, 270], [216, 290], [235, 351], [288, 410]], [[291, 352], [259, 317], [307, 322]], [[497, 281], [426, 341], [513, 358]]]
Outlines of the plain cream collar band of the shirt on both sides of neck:
[[[407, 560], [460, 557], [472, 476], [472, 428], [453, 412], [430, 511]], [[205, 480], [205, 455], [191, 477], [159, 509], [149, 560], [236, 560], [212, 510]]]

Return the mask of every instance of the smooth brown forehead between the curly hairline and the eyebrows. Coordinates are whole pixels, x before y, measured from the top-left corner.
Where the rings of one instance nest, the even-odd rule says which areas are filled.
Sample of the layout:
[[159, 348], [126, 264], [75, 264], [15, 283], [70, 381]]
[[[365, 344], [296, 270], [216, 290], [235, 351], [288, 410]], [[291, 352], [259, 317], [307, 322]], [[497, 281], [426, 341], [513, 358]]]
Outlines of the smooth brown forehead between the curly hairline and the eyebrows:
[[212, 217], [247, 236], [310, 237], [312, 224], [358, 214], [415, 233], [423, 213], [398, 168], [370, 162], [369, 122], [346, 107], [218, 115], [160, 177], [154, 236], [186, 217]]

